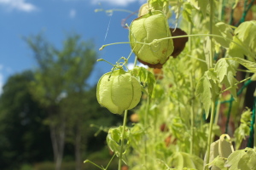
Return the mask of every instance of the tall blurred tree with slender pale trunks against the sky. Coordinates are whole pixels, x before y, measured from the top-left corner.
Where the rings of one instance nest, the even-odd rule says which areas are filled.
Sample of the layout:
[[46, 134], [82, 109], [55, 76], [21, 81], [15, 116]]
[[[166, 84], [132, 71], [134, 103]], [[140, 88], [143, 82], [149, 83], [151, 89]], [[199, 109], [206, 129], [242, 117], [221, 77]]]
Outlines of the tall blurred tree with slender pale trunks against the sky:
[[[96, 51], [93, 43], [80, 40], [79, 35], [67, 37], [61, 50], [55, 48], [42, 35], [27, 37], [26, 42], [32, 48], [38, 62], [35, 81], [32, 82], [32, 94], [48, 113], [45, 121], [49, 125], [50, 137], [54, 150], [55, 169], [61, 169], [67, 128], [77, 127], [79, 117], [84, 113], [81, 97], [89, 88], [86, 80], [90, 77], [96, 63]], [[61, 105], [62, 100], [71, 102], [72, 109]], [[74, 104], [74, 105], [73, 105]], [[76, 107], [79, 110], [76, 110]], [[64, 109], [65, 108], [65, 109]], [[71, 111], [72, 110], [72, 111]], [[77, 114], [79, 112], [79, 114]], [[78, 118], [74, 118], [74, 117]], [[72, 126], [73, 125], [73, 126]], [[76, 131], [76, 149], [79, 149], [81, 133]], [[80, 161], [79, 151], [76, 152], [77, 161]], [[78, 163], [79, 164], [79, 163]], [[77, 167], [79, 169], [79, 167]]]

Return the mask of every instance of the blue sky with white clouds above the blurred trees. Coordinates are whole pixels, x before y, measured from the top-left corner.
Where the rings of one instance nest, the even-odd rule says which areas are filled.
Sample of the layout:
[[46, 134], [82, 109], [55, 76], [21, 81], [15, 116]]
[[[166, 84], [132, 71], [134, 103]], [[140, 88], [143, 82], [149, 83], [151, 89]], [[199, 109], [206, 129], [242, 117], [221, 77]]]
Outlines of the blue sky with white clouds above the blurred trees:
[[[127, 42], [128, 31], [120, 26], [129, 14], [95, 12], [96, 8], [137, 11], [146, 0], [0, 0], [0, 94], [8, 77], [37, 67], [32, 50], [22, 37], [44, 31], [47, 40], [61, 48], [67, 34], [76, 32], [83, 40], [93, 39], [96, 50], [112, 42]], [[101, 3], [100, 6], [98, 3]], [[130, 24], [132, 16], [127, 20]], [[107, 33], [108, 32], [108, 33]], [[130, 54], [129, 44], [113, 45], [99, 52], [99, 58], [114, 63]], [[133, 62], [131, 59], [130, 62]], [[111, 65], [97, 62], [90, 77], [95, 84]]]

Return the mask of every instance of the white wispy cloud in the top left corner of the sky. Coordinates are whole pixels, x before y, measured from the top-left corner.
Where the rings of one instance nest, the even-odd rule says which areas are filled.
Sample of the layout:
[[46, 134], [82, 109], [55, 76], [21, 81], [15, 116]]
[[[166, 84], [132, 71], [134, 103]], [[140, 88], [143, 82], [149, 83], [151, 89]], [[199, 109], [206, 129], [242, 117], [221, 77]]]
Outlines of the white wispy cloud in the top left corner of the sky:
[[32, 12], [37, 9], [32, 3], [26, 3], [26, 0], [0, 0], [0, 5], [9, 10], [16, 9], [24, 12]]

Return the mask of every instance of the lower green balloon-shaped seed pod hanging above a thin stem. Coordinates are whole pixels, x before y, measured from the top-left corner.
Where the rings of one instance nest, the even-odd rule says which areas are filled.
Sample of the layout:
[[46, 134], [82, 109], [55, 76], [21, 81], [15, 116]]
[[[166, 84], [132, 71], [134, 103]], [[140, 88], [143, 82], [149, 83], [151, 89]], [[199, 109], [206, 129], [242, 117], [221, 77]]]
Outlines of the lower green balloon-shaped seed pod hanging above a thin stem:
[[124, 70], [104, 74], [97, 84], [96, 97], [99, 104], [114, 114], [122, 114], [134, 108], [141, 96], [140, 83]]

